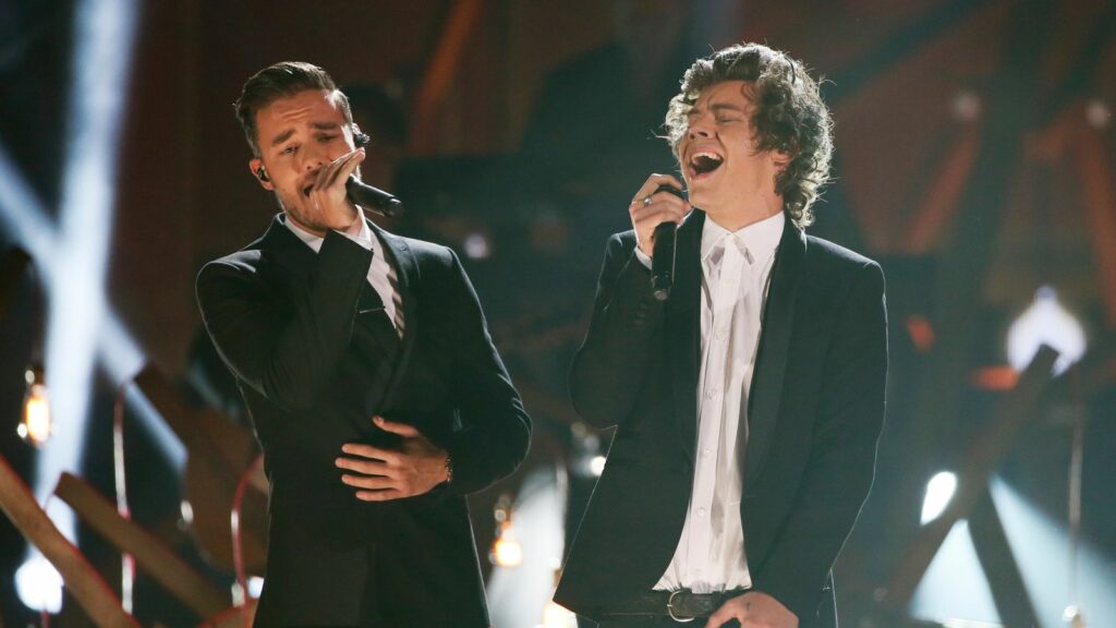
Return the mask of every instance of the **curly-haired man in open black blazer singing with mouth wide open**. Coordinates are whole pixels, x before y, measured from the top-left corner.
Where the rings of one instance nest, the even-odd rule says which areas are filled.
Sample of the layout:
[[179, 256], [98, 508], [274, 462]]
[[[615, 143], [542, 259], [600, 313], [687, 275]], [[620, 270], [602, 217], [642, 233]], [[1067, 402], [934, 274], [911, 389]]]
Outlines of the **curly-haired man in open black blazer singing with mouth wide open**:
[[616, 432], [555, 599], [600, 627], [836, 626], [830, 569], [872, 486], [887, 333], [879, 266], [804, 231], [831, 126], [802, 65], [757, 44], [699, 59], [671, 101], [689, 201], [668, 174], [636, 191], [570, 375], [580, 416]]

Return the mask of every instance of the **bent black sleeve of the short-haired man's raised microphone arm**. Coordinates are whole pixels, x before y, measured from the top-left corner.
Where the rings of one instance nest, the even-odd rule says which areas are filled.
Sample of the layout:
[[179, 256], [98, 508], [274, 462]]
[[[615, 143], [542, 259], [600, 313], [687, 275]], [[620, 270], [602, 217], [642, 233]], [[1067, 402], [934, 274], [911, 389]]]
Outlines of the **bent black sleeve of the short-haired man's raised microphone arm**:
[[307, 409], [349, 343], [371, 263], [371, 250], [328, 231], [306, 298], [279, 307], [259, 268], [212, 261], [198, 275], [205, 329], [238, 378], [285, 410]]

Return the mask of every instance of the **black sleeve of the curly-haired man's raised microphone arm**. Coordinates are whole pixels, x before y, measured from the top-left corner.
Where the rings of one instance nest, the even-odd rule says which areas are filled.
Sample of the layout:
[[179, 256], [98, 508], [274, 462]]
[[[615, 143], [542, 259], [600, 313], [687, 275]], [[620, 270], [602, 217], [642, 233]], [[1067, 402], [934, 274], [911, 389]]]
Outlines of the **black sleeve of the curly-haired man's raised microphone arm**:
[[608, 240], [589, 330], [570, 370], [574, 408], [597, 428], [632, 412], [661, 341], [663, 304], [634, 250], [632, 232]]

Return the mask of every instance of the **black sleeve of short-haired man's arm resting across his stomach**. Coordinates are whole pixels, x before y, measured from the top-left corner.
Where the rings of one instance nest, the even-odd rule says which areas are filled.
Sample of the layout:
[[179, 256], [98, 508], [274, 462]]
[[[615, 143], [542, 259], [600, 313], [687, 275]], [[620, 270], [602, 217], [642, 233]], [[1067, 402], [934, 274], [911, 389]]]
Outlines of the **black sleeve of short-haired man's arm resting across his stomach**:
[[461, 429], [444, 448], [453, 460], [448, 488], [465, 494], [485, 488], [516, 469], [527, 456], [531, 420], [492, 344], [477, 293], [452, 250], [446, 295], [456, 310], [458, 346], [453, 396]]

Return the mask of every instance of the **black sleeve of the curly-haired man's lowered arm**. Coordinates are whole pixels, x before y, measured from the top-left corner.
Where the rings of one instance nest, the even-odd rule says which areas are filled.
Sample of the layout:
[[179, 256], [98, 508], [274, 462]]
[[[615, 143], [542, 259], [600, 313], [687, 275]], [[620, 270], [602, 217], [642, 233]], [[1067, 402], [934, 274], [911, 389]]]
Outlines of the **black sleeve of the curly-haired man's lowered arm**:
[[872, 488], [887, 379], [878, 265], [860, 269], [838, 316], [825, 359], [809, 466], [795, 507], [752, 582], [800, 620], [817, 612], [828, 573]]

